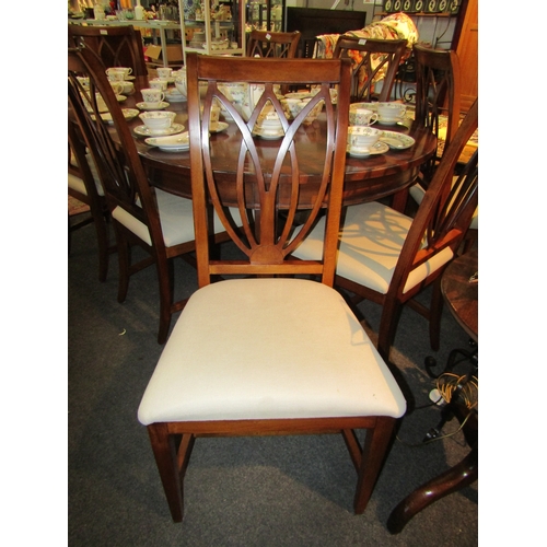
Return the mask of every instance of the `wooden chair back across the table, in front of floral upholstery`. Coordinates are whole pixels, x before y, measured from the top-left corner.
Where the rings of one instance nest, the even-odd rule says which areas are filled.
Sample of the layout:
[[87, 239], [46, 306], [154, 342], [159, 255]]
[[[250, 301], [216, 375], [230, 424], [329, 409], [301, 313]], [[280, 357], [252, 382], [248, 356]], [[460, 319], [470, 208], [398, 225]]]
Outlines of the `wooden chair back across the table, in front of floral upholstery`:
[[[395, 75], [407, 46], [406, 39], [373, 39], [340, 36], [333, 57], [352, 59], [351, 102], [389, 101]], [[382, 90], [374, 92], [375, 79], [383, 74]]]

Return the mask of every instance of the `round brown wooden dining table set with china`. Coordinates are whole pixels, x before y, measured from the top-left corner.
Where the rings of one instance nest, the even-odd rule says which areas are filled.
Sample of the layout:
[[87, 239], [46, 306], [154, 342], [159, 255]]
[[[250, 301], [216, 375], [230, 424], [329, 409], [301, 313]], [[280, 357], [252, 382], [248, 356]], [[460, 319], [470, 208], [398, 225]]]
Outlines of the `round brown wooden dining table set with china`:
[[[137, 77], [133, 80], [135, 92], [120, 103], [123, 108], [137, 108], [142, 102], [140, 90], [149, 86], [146, 77]], [[174, 123], [188, 125], [187, 102], [170, 102], [168, 94], [165, 98], [170, 105], [167, 110], [176, 113]], [[221, 118], [222, 119], [222, 118]], [[142, 120], [137, 116], [128, 120], [129, 126], [135, 129], [142, 126]], [[325, 139], [326, 121], [319, 115], [316, 120], [306, 127], [302, 127], [296, 133], [296, 147], [299, 150], [299, 163], [302, 171], [316, 174], [316, 151], [321, 150], [322, 139]], [[383, 154], [369, 155], [365, 158], [352, 158], [348, 154], [346, 161], [346, 177], [344, 185], [344, 205], [353, 205], [363, 201], [372, 201], [386, 196], [396, 195], [399, 190], [410, 186], [419, 174], [420, 166], [434, 153], [437, 149], [437, 137], [424, 127], [411, 125], [410, 127], [381, 126], [383, 130], [396, 131], [408, 135], [415, 139], [415, 143], [405, 150], [392, 150]], [[190, 189], [190, 154], [189, 151], [172, 152], [163, 151], [144, 142], [144, 137], [139, 137], [133, 131], [138, 152], [149, 175], [150, 183], [155, 187], [172, 194], [191, 198]], [[237, 135], [234, 124], [229, 124], [225, 131], [211, 135], [211, 140], [222, 140], [222, 156], [218, 159], [218, 168], [231, 168], [234, 158], [240, 153], [241, 137]], [[268, 149], [274, 150], [277, 144], [269, 140], [257, 137], [257, 146], [265, 155]], [[405, 193], [400, 193], [405, 194]], [[396, 205], [393, 205], [395, 208]]]

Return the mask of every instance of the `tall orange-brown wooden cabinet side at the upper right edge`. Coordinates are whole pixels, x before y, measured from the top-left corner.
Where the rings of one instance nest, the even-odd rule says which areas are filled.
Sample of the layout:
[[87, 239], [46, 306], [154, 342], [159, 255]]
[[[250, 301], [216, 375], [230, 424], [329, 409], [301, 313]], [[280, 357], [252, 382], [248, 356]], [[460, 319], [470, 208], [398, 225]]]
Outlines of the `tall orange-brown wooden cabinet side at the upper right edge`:
[[467, 112], [478, 96], [478, 0], [465, 0], [462, 11], [452, 47], [459, 57], [462, 110]]

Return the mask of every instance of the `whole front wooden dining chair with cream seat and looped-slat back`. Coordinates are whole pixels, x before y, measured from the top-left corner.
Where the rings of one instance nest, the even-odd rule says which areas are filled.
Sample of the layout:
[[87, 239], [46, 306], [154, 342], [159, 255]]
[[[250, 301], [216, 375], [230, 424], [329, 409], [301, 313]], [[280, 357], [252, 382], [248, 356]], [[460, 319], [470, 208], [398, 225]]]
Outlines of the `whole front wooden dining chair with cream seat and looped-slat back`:
[[[248, 121], [222, 93], [245, 74], [264, 92]], [[341, 433], [358, 472], [353, 500], [362, 513], [406, 403], [397, 383], [341, 295], [333, 289], [349, 115], [346, 60], [220, 58], [188, 54], [188, 113], [199, 289], [183, 310], [139, 406], [175, 522], [183, 520], [183, 481], [195, 441], [203, 435]], [[207, 83], [203, 119], [199, 83]], [[274, 89], [318, 86], [289, 121]], [[329, 88], [339, 85], [338, 108]], [[234, 119], [241, 154], [216, 170], [220, 141], [209, 138], [208, 112], [219, 101]], [[327, 139], [317, 175], [301, 174], [294, 133], [325, 102]], [[275, 108], [286, 137], [257, 153], [252, 135], [263, 108]], [[225, 160], [225, 158], [223, 159]], [[300, 193], [301, 185], [316, 191]], [[302, 196], [305, 194], [305, 196]], [[293, 235], [306, 202], [309, 219]], [[238, 251], [210, 260], [208, 201]], [[234, 229], [225, 206], [237, 207]], [[324, 255], [293, 260], [291, 252], [326, 207]], [[283, 210], [286, 214], [278, 212]], [[294, 278], [293, 276], [301, 276]], [[319, 281], [302, 276], [316, 275]], [[211, 283], [212, 276], [236, 277]], [[364, 447], [353, 430], [365, 429]]]

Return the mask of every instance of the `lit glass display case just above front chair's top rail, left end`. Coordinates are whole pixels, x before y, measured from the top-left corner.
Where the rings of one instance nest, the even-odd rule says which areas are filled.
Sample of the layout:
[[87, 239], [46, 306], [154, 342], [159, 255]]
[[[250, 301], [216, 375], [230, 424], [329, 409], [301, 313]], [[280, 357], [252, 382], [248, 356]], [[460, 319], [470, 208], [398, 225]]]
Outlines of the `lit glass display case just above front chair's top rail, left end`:
[[183, 53], [244, 55], [245, 4], [243, 0], [182, 0]]

